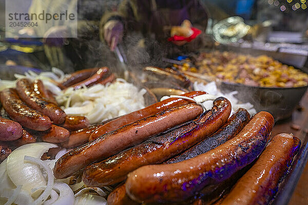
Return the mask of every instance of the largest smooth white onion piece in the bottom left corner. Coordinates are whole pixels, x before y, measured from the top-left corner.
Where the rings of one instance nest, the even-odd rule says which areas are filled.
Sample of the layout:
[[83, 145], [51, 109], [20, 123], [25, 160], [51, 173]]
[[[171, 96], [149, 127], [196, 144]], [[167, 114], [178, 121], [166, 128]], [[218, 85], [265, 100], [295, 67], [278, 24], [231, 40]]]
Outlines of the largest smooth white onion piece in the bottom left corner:
[[[15, 149], [7, 158], [6, 169], [15, 186], [23, 185], [23, 190], [31, 192], [31, 189], [46, 185], [45, 177], [40, 167], [33, 163], [24, 162], [25, 155], [38, 159], [50, 148], [57, 147], [46, 142], [37, 142], [23, 145]], [[53, 179], [53, 177], [52, 177]]]

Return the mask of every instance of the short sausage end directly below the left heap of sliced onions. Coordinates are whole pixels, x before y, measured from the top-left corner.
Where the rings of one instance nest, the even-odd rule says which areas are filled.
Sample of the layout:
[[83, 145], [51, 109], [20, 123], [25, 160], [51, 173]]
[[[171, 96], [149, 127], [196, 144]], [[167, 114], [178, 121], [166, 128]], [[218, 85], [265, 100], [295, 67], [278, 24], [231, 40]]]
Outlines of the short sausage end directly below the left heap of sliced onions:
[[65, 122], [61, 125], [61, 127], [64, 127], [68, 131], [72, 132], [87, 128], [89, 125], [89, 120], [84, 116], [66, 116]]

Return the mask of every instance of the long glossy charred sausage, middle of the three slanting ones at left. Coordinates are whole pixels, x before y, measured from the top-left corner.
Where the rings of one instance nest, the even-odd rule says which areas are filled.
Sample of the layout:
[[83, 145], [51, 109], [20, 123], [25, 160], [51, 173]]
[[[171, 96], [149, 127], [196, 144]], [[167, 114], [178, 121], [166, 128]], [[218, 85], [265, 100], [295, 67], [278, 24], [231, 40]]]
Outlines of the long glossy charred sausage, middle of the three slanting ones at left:
[[[36, 86], [38, 84], [35, 84]], [[47, 115], [54, 124], [62, 124], [65, 120], [65, 112], [53, 103], [49, 103], [27, 79], [19, 79], [16, 83], [16, 90], [21, 99], [31, 108]]]

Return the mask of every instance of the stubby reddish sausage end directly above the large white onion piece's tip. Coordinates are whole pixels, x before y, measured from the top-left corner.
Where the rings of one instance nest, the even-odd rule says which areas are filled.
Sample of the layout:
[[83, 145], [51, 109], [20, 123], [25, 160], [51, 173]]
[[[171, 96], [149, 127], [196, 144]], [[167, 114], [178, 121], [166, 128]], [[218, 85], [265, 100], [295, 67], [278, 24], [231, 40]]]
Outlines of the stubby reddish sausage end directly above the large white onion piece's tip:
[[64, 142], [69, 137], [69, 131], [65, 128], [52, 125], [51, 129], [42, 136], [42, 140], [50, 143]]

